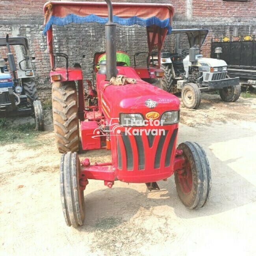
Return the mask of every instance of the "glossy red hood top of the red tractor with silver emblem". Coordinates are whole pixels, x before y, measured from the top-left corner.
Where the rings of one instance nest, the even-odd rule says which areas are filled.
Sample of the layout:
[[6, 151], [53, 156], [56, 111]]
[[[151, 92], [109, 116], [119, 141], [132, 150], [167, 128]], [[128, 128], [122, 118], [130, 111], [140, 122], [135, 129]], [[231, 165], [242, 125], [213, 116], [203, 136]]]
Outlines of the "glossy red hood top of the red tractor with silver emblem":
[[[180, 109], [180, 100], [176, 96], [144, 82], [137, 76], [134, 69], [118, 67], [118, 71], [119, 74], [126, 73], [123, 74], [126, 77], [135, 78], [136, 83], [119, 86], [108, 85], [103, 89], [106, 82], [102, 79], [100, 83], [101, 106], [109, 119], [118, 118], [120, 113], [140, 113], [145, 117], [148, 112], [156, 112], [160, 118], [166, 111]], [[127, 75], [129, 73], [130, 76]], [[97, 76], [100, 79], [102, 75]]]

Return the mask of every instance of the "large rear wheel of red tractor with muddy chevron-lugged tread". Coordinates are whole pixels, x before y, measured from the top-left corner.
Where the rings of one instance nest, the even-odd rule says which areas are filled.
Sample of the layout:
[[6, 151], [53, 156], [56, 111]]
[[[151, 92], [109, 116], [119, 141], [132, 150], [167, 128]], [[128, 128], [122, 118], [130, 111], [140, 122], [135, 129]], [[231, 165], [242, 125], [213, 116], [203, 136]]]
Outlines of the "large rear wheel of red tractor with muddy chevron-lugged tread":
[[52, 84], [52, 112], [59, 152], [77, 152], [79, 149], [79, 121], [75, 82]]

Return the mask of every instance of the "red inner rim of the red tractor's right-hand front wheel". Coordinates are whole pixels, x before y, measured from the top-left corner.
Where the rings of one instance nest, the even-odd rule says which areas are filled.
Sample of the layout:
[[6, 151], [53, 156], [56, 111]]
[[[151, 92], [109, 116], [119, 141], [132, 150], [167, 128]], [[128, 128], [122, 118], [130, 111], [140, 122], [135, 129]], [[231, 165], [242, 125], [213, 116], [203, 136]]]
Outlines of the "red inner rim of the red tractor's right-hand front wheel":
[[178, 171], [178, 180], [180, 188], [184, 194], [189, 194], [192, 189], [192, 171], [191, 165], [188, 160], [185, 161], [185, 167], [183, 170]]

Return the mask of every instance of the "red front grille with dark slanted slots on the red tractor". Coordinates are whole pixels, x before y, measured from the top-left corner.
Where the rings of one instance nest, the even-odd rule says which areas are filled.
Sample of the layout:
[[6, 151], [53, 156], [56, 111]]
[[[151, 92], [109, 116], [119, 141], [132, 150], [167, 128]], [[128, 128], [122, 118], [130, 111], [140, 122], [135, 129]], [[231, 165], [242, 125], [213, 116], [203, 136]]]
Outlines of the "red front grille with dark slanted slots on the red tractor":
[[161, 135], [143, 134], [135, 136], [121, 132], [121, 136], [117, 136], [118, 169], [141, 171], [145, 170], [147, 162], [151, 163], [150, 169], [152, 167], [159, 169], [162, 158], [164, 158], [164, 167], [169, 167], [178, 129], [175, 129], [172, 134], [169, 134], [170, 132], [165, 130], [165, 134], [162, 133]]

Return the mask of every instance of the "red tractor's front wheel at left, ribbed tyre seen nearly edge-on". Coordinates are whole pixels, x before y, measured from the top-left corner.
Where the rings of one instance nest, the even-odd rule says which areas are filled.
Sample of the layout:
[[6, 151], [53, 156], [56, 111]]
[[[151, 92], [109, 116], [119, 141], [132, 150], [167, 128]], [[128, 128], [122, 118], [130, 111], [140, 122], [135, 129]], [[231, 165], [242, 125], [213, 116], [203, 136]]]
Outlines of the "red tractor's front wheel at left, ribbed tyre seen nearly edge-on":
[[81, 226], [84, 219], [84, 196], [80, 190], [80, 161], [77, 153], [68, 152], [61, 157], [60, 193], [65, 221], [68, 226]]

